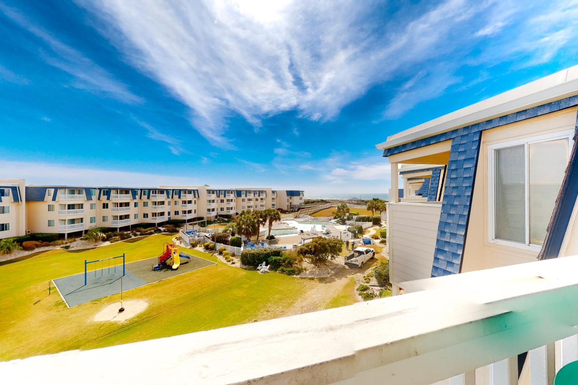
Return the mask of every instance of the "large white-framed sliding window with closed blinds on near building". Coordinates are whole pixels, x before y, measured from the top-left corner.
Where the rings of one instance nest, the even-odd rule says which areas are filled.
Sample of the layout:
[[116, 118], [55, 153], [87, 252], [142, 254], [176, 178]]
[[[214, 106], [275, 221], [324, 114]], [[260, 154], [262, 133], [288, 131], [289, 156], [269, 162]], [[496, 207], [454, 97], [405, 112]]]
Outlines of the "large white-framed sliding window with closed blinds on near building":
[[488, 147], [490, 242], [539, 250], [566, 165], [572, 131]]

